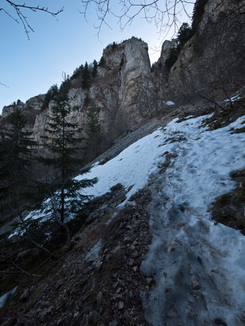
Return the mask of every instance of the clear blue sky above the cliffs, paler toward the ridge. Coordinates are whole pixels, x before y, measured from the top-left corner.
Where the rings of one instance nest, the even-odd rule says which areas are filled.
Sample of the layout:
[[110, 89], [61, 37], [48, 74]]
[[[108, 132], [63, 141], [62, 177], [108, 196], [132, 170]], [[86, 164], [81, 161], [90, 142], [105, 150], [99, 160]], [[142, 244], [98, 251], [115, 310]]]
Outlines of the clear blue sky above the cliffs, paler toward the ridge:
[[[35, 31], [30, 32], [28, 40], [22, 25], [0, 11], [0, 81], [8, 86], [0, 86], [0, 113], [4, 105], [17, 99], [25, 102], [35, 95], [46, 93], [51, 85], [59, 85], [62, 72], [70, 75], [85, 61], [99, 61], [103, 48], [114, 41], [121, 42], [132, 36], [142, 38], [149, 45], [151, 62], [156, 61], [160, 55], [160, 52], [154, 52], [153, 49], [160, 47], [163, 36], [159, 36], [155, 24], [147, 24], [140, 17], [131, 26], [126, 26], [124, 31], [120, 31], [117, 19], [110, 15], [108, 22], [112, 29], [103, 26], [98, 40], [97, 30], [94, 29], [94, 23], [98, 23], [95, 10], [89, 10], [86, 22], [79, 13], [79, 10], [82, 11], [80, 0], [24, 2], [33, 6], [39, 3], [48, 6], [50, 10], [64, 6], [64, 12], [59, 14], [57, 22], [46, 13], [26, 11], [29, 24]], [[1, 6], [8, 9], [8, 3], [5, 4], [4, 0], [1, 1]], [[192, 13], [192, 6], [188, 10]], [[185, 21], [186, 17], [182, 16], [181, 22]], [[169, 34], [167, 38], [171, 36]]]

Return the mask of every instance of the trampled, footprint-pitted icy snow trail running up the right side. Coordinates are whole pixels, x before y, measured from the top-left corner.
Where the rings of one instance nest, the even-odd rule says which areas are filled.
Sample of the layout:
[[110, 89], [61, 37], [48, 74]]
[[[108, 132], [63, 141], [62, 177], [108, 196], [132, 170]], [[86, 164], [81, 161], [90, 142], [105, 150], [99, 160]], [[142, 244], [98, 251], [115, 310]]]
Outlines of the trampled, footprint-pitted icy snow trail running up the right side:
[[177, 158], [150, 186], [153, 240], [141, 270], [156, 281], [142, 293], [154, 326], [245, 325], [245, 238], [207, 213], [234, 187], [229, 173], [245, 166], [244, 134], [229, 132], [244, 117], [211, 132], [198, 128], [202, 119], [168, 125], [166, 139], [186, 140], [165, 144]]

